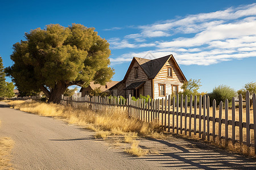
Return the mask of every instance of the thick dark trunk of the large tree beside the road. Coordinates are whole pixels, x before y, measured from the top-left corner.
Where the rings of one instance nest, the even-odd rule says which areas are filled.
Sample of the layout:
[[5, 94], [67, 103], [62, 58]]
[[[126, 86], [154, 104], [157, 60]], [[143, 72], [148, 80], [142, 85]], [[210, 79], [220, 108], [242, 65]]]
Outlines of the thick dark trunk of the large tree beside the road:
[[49, 95], [48, 103], [60, 103], [61, 95], [64, 94], [67, 89], [67, 84], [64, 82], [57, 82], [54, 88], [52, 88], [51, 94]]

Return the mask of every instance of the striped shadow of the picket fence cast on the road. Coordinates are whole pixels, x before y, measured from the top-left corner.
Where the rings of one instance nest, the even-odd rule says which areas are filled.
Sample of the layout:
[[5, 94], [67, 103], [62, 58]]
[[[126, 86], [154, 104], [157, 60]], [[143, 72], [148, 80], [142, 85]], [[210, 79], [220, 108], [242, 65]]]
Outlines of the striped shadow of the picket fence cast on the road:
[[[147, 155], [143, 158], [152, 162], [160, 162], [162, 167], [182, 169], [256, 169], [256, 160], [229, 154], [220, 149], [199, 148], [195, 143], [184, 140], [163, 141], [160, 139], [147, 139], [164, 147], [159, 155]], [[207, 148], [206, 148], [207, 149]]]

